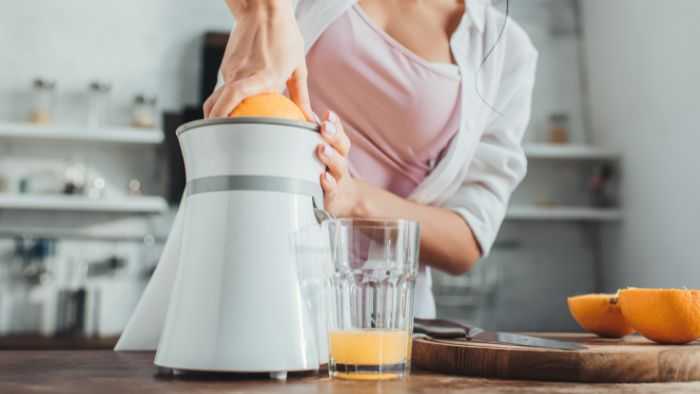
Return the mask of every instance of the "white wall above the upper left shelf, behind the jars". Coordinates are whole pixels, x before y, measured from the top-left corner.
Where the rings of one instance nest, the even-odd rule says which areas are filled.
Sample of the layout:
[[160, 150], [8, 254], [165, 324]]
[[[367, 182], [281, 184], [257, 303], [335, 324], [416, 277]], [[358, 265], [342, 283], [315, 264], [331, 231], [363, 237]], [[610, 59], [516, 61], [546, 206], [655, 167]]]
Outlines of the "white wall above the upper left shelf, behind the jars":
[[0, 3], [0, 119], [24, 120], [37, 76], [58, 82], [59, 120], [80, 122], [88, 82], [113, 84], [112, 121], [125, 123], [137, 93], [161, 108], [194, 104], [199, 95], [202, 33], [227, 30], [221, 1], [120, 0]]

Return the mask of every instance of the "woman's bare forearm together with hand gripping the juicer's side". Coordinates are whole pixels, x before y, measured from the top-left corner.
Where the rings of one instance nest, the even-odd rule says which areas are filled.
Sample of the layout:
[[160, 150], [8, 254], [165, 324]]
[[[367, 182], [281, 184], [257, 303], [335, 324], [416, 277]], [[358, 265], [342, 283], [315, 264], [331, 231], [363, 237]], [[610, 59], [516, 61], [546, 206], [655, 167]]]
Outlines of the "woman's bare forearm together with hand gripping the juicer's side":
[[451, 274], [468, 271], [481, 257], [480, 247], [467, 223], [452, 210], [409, 201], [350, 176], [350, 141], [338, 117], [325, 115], [321, 134], [327, 144], [318, 147], [328, 167], [321, 175], [325, 207], [339, 217], [404, 218], [421, 224], [421, 259]]

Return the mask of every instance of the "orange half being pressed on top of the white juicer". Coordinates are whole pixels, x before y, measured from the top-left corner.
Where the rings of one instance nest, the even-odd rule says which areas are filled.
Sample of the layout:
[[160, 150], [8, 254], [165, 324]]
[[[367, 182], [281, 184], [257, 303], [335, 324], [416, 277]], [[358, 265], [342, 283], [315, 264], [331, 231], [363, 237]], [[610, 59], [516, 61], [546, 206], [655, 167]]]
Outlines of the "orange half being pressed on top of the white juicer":
[[229, 114], [230, 117], [255, 116], [265, 118], [282, 118], [306, 120], [304, 113], [287, 96], [279, 93], [260, 93], [250, 96]]

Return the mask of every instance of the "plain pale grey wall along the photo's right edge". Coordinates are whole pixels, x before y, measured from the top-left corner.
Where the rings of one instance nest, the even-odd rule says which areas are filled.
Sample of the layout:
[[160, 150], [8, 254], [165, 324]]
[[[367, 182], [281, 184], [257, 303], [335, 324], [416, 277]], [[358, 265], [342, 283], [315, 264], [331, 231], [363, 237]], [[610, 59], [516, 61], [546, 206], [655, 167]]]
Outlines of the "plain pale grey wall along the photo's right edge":
[[604, 286], [699, 287], [700, 2], [581, 3], [593, 131], [625, 163]]

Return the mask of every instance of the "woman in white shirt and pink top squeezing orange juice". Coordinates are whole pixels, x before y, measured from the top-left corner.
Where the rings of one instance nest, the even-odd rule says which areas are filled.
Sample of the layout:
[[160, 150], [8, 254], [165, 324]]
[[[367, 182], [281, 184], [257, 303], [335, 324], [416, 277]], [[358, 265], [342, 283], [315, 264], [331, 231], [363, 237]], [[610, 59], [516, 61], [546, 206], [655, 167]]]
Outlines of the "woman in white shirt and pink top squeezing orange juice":
[[[489, 253], [526, 171], [537, 52], [521, 28], [487, 0], [228, 5], [236, 26], [205, 116], [286, 84], [322, 125], [330, 213], [416, 220], [423, 264], [452, 274]], [[425, 266], [416, 315], [435, 315]]]

